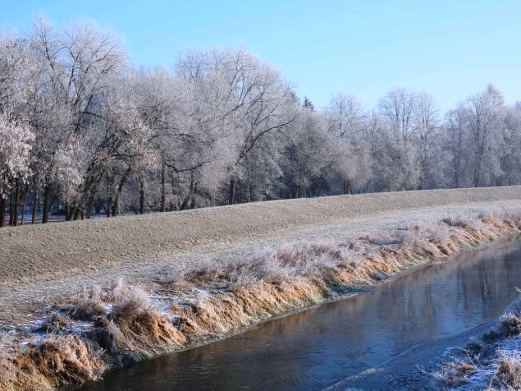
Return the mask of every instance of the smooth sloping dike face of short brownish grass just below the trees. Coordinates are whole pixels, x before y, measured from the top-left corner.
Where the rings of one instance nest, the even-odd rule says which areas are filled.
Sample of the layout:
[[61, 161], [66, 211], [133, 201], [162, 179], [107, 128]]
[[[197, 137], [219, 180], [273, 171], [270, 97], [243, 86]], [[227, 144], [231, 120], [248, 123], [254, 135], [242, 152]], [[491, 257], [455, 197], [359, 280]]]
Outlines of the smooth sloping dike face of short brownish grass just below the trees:
[[280, 231], [430, 206], [520, 200], [521, 187], [428, 190], [258, 202], [186, 212], [0, 229], [0, 287], [234, 243]]

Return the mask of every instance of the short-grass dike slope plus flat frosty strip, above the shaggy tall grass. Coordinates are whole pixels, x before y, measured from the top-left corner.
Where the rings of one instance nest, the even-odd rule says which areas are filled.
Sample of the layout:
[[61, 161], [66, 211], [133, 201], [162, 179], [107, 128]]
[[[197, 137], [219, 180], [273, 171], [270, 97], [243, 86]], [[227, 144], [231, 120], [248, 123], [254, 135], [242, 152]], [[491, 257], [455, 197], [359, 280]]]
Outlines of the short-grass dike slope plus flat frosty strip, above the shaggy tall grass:
[[[521, 187], [479, 190], [485, 191], [367, 194], [239, 205], [234, 210], [237, 208], [242, 221], [230, 214], [229, 207], [221, 207], [42, 227], [46, 230], [41, 226], [5, 230], [0, 232], [3, 254], [8, 249], [0, 265], [0, 327], [27, 324], [60, 297], [84, 286], [112, 284], [119, 277], [131, 283], [148, 283], [208, 258], [249, 256], [263, 247], [379, 236], [449, 214], [521, 211]], [[494, 200], [497, 198], [502, 200]], [[429, 206], [437, 202], [441, 205]], [[178, 228], [173, 229], [176, 225]], [[165, 232], [167, 227], [172, 229], [170, 233]], [[129, 237], [125, 239], [119, 229]], [[213, 235], [206, 237], [209, 233]], [[180, 239], [170, 243], [171, 236]], [[111, 247], [101, 243], [98, 251], [85, 250], [96, 247], [102, 238]], [[83, 250], [73, 250], [80, 241]], [[35, 243], [43, 246], [41, 255], [35, 255], [27, 269], [22, 259], [27, 260], [26, 252], [38, 251]], [[139, 251], [131, 250], [138, 247]], [[13, 255], [17, 248], [23, 255]], [[125, 248], [126, 252], [116, 257], [106, 253], [110, 248]]]

